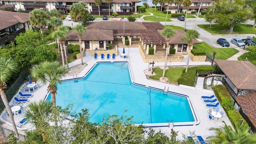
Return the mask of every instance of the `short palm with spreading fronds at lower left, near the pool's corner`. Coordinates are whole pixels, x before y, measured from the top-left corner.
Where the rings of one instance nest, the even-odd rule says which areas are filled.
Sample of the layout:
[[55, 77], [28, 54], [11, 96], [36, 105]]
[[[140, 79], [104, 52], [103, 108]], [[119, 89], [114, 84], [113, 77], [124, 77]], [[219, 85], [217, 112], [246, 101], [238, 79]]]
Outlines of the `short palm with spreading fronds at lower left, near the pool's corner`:
[[28, 122], [35, 126], [38, 133], [42, 134], [43, 141], [46, 140], [44, 135], [45, 128], [50, 126], [48, 118], [52, 112], [52, 102], [40, 100], [39, 102], [31, 102], [25, 112]]

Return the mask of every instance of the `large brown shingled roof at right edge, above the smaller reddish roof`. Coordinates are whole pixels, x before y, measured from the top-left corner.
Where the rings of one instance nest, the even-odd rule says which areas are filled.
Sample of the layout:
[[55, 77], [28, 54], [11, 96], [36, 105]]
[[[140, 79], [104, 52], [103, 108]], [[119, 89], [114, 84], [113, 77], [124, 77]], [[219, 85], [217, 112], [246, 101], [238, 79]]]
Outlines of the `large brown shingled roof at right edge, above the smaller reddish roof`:
[[256, 90], [256, 66], [248, 61], [214, 60], [237, 89]]

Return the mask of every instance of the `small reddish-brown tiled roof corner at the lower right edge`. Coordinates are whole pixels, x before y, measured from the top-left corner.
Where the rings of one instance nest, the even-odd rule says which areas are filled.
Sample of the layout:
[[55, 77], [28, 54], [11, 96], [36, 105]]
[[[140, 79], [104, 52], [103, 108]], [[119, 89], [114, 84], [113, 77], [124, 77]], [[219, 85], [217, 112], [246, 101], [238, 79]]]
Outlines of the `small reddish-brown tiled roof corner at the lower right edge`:
[[246, 116], [256, 127], [256, 92], [234, 97]]

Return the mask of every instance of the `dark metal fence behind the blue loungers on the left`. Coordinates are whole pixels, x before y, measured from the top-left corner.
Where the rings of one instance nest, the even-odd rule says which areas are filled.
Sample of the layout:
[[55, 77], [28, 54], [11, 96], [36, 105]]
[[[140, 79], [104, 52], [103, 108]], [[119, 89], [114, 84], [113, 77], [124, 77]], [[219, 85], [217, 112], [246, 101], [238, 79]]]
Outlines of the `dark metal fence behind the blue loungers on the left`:
[[[8, 102], [10, 102], [10, 100], [12, 99], [12, 97], [18, 92], [20, 86], [23, 84], [25, 78], [26, 78], [26, 71], [23, 71], [20, 76], [15, 80], [15, 82], [12, 84], [12, 86], [7, 90], [6, 94], [6, 98], [8, 100]], [[4, 110], [5, 106], [4, 103], [2, 101], [2, 99], [0, 100], [0, 112], [2, 112]]]

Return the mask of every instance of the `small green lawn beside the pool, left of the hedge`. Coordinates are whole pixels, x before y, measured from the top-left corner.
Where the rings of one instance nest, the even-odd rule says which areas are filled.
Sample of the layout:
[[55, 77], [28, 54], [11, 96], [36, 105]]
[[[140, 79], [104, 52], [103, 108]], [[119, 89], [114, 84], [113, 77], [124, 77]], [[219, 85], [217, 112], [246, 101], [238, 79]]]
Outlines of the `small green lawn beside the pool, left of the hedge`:
[[[169, 79], [170, 82], [178, 82], [178, 79], [180, 78], [181, 74], [183, 73], [183, 70], [186, 68], [169, 68], [165, 71], [165, 77]], [[159, 80], [160, 77], [163, 76], [162, 69], [156, 67], [154, 68], [154, 72], [156, 73], [156, 76], [149, 76], [149, 78], [153, 80]]]

